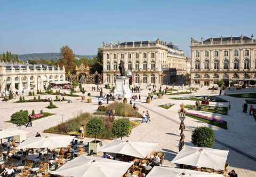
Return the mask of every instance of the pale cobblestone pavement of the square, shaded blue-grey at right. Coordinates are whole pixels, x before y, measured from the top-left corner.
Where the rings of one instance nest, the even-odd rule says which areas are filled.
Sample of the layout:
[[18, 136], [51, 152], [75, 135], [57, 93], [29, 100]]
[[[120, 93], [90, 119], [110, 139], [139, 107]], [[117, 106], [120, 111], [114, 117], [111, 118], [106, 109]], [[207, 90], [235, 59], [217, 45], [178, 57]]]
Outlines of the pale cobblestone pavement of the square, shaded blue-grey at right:
[[[87, 85], [86, 90], [91, 90], [91, 85]], [[108, 91], [104, 89], [103, 92], [107, 93]], [[31, 112], [31, 110], [34, 109], [36, 112], [39, 112], [41, 109], [43, 109], [43, 111], [55, 113], [56, 115], [35, 120], [33, 122], [33, 127], [22, 127], [23, 130], [26, 130], [30, 133], [29, 136], [34, 136], [36, 132], [42, 133], [46, 128], [57, 125], [62, 121], [66, 121], [76, 116], [80, 112], [95, 111], [98, 107], [98, 99], [94, 96], [99, 95], [99, 93], [91, 91], [90, 93], [92, 94], [93, 103], [83, 102], [79, 97], [67, 97], [68, 99], [73, 100], [73, 103], [69, 104], [66, 102], [54, 102], [54, 104], [59, 108], [50, 110], [45, 108], [47, 104], [49, 104], [45, 102], [13, 103], [18, 99], [11, 100], [7, 103], [0, 102], [0, 128], [14, 127], [14, 125], [11, 123], [4, 122], [9, 120], [10, 116], [15, 111], [26, 109]], [[147, 91], [143, 90], [140, 94], [142, 96], [142, 100], [141, 102], [137, 102], [139, 111], [142, 112], [143, 110], [149, 110], [151, 123], [141, 123], [138, 127], [135, 127], [131, 135], [125, 139], [129, 139], [131, 141], [148, 141], [159, 143], [158, 150], [164, 151], [166, 155], [164, 166], [174, 167], [175, 164], [170, 163], [170, 161], [178, 152], [180, 120], [177, 112], [179, 110], [179, 104], [181, 104], [181, 102], [185, 104], [195, 104], [195, 101], [169, 99], [170, 97], [179, 97], [185, 95], [166, 95], [163, 99], [155, 99], [150, 104], [148, 104], [145, 103], [146, 95], [148, 94]], [[216, 95], [217, 92], [201, 89], [193, 95], [210, 94]], [[54, 95], [41, 95], [41, 98], [46, 96], [55, 98]], [[27, 98], [29, 97], [26, 96], [26, 99]], [[31, 98], [33, 98], [33, 96]], [[239, 176], [256, 176], [256, 122], [252, 116], [247, 114], [245, 115], [242, 112], [242, 103], [244, 102], [244, 99], [233, 98], [230, 96], [221, 96], [221, 98], [231, 101], [231, 110], [229, 111], [228, 116], [212, 114], [203, 111], [200, 111], [200, 114], [214, 116], [226, 120], [228, 122], [228, 130], [224, 130], [222, 128], [187, 117], [185, 119], [186, 144], [193, 145], [191, 143], [191, 132], [197, 126], [205, 125], [211, 127], [215, 132], [216, 139], [213, 148], [230, 151], [228, 155], [228, 163], [230, 164], [229, 170], [234, 169]], [[160, 104], [164, 103], [174, 103], [174, 106], [168, 110], [158, 107]], [[227, 103], [210, 102], [210, 105], [227, 106]], [[140, 121], [140, 119], [132, 119]], [[89, 141], [90, 139], [86, 140]]]

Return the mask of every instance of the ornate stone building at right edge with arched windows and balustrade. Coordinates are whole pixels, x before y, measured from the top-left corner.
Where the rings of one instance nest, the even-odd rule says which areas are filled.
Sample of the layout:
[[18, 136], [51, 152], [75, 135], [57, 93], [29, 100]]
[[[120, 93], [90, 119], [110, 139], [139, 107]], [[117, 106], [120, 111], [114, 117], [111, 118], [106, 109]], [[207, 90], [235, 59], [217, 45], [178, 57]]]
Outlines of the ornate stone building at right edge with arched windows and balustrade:
[[251, 37], [218, 37], [197, 42], [191, 38], [191, 84], [250, 85], [256, 79], [256, 40]]

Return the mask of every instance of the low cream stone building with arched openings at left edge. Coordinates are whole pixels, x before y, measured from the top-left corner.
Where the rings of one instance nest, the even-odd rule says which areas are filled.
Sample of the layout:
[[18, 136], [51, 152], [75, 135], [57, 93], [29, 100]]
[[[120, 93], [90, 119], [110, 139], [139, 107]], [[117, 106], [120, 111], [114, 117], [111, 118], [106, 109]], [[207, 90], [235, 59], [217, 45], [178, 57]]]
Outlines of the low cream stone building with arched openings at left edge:
[[0, 92], [25, 93], [45, 90], [50, 82], [65, 80], [65, 68], [44, 65], [12, 65], [0, 63]]

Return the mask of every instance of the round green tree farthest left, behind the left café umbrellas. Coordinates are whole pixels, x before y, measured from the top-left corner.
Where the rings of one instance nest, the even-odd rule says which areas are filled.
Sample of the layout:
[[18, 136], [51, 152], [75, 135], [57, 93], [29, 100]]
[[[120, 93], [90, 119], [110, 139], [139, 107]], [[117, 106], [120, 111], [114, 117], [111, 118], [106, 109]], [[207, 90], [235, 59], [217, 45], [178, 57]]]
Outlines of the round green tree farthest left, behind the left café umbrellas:
[[22, 125], [26, 125], [28, 123], [28, 111], [20, 110], [11, 115], [11, 123], [14, 125], [21, 127]]

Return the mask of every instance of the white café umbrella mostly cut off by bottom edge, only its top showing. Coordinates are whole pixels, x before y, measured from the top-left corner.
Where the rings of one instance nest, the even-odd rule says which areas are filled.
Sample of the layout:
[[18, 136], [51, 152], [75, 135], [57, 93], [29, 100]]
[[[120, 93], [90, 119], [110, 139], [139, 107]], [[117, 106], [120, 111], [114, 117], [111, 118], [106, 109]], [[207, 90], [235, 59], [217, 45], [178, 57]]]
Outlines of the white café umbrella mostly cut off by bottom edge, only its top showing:
[[223, 177], [223, 175], [180, 168], [154, 166], [147, 174], [147, 177]]

